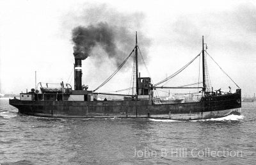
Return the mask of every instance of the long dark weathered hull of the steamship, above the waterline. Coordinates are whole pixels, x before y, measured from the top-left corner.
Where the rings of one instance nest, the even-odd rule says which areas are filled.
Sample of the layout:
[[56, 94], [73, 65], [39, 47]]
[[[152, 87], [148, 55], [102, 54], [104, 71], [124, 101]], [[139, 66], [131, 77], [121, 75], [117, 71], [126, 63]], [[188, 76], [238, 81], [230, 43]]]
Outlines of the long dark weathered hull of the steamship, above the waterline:
[[200, 102], [154, 104], [150, 100], [43, 101], [12, 99], [20, 114], [55, 118], [163, 118], [198, 120], [241, 113], [241, 90], [204, 97]]

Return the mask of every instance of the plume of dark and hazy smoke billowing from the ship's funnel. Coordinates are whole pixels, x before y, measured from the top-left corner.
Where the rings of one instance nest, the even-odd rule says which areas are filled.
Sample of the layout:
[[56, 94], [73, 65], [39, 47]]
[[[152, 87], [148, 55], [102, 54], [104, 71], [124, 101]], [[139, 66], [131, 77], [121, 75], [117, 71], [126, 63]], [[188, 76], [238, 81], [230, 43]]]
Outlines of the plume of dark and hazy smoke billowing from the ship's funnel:
[[143, 33], [143, 13], [120, 13], [102, 5], [84, 10], [83, 16], [78, 19], [81, 25], [72, 30], [75, 58], [100, 58], [102, 54], [93, 53], [100, 47], [106, 52], [104, 56], [120, 65], [134, 48], [135, 31], [138, 31], [139, 46], [143, 58], [147, 59], [150, 40]]

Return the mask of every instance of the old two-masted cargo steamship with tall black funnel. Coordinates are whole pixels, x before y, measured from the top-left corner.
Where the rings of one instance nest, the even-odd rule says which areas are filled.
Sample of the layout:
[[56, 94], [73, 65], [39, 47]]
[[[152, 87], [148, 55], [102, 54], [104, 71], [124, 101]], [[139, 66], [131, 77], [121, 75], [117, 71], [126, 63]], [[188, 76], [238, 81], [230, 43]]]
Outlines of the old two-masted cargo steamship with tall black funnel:
[[[232, 92], [214, 91], [207, 88], [205, 80], [205, 43], [202, 39], [202, 86], [198, 87], [168, 87], [159, 84], [172, 78], [152, 84], [150, 77], [140, 77], [138, 72], [138, 43], [137, 33], [134, 54], [134, 77], [136, 77], [136, 92], [132, 95], [97, 93], [82, 85], [82, 59], [75, 57], [74, 90], [69, 84], [61, 83], [61, 88], [41, 87], [40, 91], [32, 89], [20, 93], [20, 99], [13, 98], [9, 104], [19, 109], [19, 114], [44, 116], [53, 118], [159, 118], [172, 120], [200, 120], [220, 118], [229, 114], [241, 114], [241, 88]], [[127, 59], [131, 56], [125, 59]], [[196, 56], [196, 57], [198, 57]], [[193, 59], [195, 60], [195, 59]], [[189, 62], [191, 63], [191, 62]], [[124, 63], [122, 63], [123, 65]], [[120, 65], [122, 67], [122, 65]], [[186, 65], [187, 66], [187, 65]], [[119, 67], [120, 68], [120, 67]], [[182, 67], [184, 69], [186, 67]], [[181, 71], [180, 71], [181, 72]], [[177, 72], [175, 72], [176, 74]], [[112, 74], [111, 77], [113, 77]], [[104, 83], [106, 83], [105, 81]], [[102, 85], [104, 85], [104, 83]], [[101, 85], [101, 86], [102, 86]], [[157, 88], [186, 88], [200, 90], [200, 99], [180, 101], [162, 101], [154, 97]], [[118, 95], [123, 100], [99, 100], [98, 95]]]

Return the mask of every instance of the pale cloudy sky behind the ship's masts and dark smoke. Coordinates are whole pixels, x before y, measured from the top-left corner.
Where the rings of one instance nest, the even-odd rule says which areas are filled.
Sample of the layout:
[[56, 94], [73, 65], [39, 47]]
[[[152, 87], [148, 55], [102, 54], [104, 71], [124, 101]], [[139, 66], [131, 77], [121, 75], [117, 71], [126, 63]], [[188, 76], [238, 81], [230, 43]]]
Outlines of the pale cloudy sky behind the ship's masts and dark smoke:
[[[42, 83], [74, 84], [72, 30], [109, 25], [125, 59], [138, 45], [141, 77], [157, 83], [202, 51], [207, 52], [242, 89], [256, 93], [256, 3], [254, 1], [0, 1], [0, 92], [20, 93]], [[134, 38], [134, 39], [133, 39]], [[139, 56], [140, 57], [140, 56]], [[83, 84], [94, 90], [117, 68], [100, 44], [83, 60]], [[99, 92], [129, 88], [132, 58]], [[202, 59], [201, 59], [202, 60]], [[199, 66], [201, 68], [199, 68]], [[207, 57], [214, 90], [237, 86]], [[165, 86], [202, 81], [199, 58]], [[148, 71], [147, 71], [148, 70]], [[148, 73], [149, 72], [149, 73]], [[199, 77], [198, 77], [199, 76]], [[166, 91], [166, 90], [165, 90]], [[183, 91], [172, 90], [171, 93]], [[185, 92], [185, 91], [184, 91]], [[188, 91], [187, 91], [188, 92]], [[189, 91], [190, 92], [190, 91]], [[191, 91], [193, 92], [193, 91]], [[166, 92], [159, 91], [162, 95]]]

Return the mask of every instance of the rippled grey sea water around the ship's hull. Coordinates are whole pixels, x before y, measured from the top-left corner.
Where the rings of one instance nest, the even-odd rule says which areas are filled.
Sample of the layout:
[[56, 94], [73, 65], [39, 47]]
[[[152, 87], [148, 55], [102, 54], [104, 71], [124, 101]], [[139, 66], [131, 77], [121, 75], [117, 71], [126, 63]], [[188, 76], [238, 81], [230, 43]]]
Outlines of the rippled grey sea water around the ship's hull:
[[0, 99], [0, 164], [255, 164], [255, 110], [190, 122], [40, 118]]

